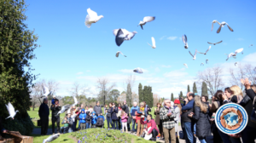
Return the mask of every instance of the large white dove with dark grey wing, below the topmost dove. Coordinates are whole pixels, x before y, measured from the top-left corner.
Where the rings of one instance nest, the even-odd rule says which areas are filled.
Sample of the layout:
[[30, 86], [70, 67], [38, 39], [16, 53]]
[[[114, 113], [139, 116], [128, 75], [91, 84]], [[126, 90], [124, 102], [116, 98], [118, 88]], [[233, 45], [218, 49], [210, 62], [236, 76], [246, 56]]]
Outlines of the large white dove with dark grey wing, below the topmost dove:
[[125, 40], [131, 40], [137, 34], [137, 31], [127, 31], [125, 29], [114, 29], [115, 43], [120, 46]]

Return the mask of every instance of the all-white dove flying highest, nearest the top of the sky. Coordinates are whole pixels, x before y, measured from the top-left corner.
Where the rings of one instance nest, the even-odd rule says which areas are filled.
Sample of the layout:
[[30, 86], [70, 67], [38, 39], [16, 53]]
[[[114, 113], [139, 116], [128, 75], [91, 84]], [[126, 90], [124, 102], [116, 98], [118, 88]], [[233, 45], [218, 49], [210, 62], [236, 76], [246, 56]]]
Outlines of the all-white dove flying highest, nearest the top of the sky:
[[95, 11], [90, 10], [90, 8], [87, 9], [87, 13], [84, 23], [88, 28], [90, 28], [92, 23], [96, 23], [103, 18], [103, 15], [98, 16], [98, 14]]

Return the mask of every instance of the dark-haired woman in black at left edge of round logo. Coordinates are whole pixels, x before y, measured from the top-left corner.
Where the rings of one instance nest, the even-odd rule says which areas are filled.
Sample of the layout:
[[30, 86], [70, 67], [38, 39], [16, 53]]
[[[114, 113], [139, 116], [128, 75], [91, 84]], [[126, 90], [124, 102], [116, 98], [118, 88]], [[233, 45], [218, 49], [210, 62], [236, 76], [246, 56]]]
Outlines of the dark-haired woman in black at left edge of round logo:
[[211, 128], [212, 128], [212, 134], [213, 134], [213, 143], [222, 142], [222, 138], [220, 137], [220, 134], [218, 133], [218, 128], [214, 121], [215, 113], [217, 112], [220, 105], [222, 105], [221, 103], [223, 103], [222, 94], [223, 94], [223, 91], [218, 90], [212, 96], [212, 104], [209, 104], [210, 112], [212, 112], [212, 116], [211, 116], [212, 127]]

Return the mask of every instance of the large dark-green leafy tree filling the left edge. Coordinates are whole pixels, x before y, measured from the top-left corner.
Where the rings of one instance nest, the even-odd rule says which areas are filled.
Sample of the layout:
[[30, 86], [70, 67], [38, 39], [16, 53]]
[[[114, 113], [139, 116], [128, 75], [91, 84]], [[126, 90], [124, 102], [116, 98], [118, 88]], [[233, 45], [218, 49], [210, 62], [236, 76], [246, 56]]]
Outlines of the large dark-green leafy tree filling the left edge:
[[30, 61], [38, 47], [38, 36], [25, 23], [26, 7], [25, 0], [0, 1], [0, 116], [9, 117], [5, 104], [10, 102], [19, 112], [15, 120], [2, 120], [3, 128], [23, 135], [31, 134], [34, 127], [26, 111], [32, 105], [29, 89], [37, 78]]

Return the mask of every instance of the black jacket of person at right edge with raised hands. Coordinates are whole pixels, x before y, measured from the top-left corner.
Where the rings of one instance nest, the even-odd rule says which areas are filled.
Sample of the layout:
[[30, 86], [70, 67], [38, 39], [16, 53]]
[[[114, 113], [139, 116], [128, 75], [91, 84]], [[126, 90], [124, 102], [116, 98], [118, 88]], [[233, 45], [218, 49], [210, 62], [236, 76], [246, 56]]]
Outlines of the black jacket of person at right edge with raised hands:
[[248, 123], [247, 126], [253, 127], [256, 129], [256, 123], [251, 121], [251, 113], [253, 112], [253, 100], [246, 94], [244, 98], [240, 102], [240, 106], [243, 106], [244, 109], [247, 111]]

